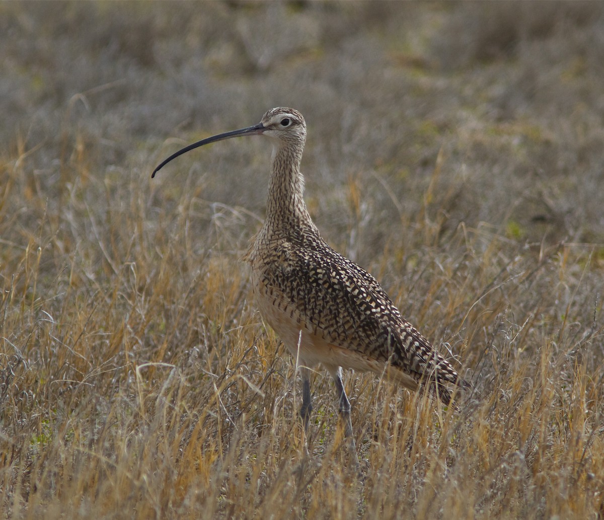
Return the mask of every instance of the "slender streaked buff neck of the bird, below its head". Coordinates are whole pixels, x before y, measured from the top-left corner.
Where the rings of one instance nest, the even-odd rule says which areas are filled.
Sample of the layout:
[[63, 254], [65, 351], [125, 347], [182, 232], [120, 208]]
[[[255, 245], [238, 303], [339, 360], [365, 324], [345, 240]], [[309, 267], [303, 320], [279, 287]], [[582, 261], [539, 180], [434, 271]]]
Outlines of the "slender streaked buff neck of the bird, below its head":
[[304, 204], [301, 159], [301, 147], [277, 146], [272, 152], [264, 226], [269, 235], [291, 238], [292, 234], [316, 231]]

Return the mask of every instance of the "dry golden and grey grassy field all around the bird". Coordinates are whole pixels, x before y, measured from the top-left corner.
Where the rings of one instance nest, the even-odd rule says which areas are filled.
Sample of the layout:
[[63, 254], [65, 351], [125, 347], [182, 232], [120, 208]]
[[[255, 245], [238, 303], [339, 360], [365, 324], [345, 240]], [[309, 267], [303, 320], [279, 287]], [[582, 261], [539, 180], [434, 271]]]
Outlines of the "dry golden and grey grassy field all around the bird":
[[[604, 518], [604, 8], [0, 4], [7, 519]], [[270, 145], [471, 380], [460, 410], [347, 372], [361, 459], [239, 258]]]

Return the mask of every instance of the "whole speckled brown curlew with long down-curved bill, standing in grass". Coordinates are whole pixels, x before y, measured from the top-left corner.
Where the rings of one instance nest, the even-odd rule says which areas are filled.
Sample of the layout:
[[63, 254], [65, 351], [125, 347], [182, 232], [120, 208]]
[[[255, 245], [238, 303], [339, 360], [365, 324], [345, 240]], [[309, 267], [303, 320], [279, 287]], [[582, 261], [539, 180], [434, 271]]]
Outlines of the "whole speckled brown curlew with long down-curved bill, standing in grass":
[[321, 237], [303, 198], [306, 122], [300, 112], [273, 108], [258, 124], [190, 144], [161, 162], [152, 178], [183, 153], [248, 135], [266, 136], [273, 146], [265, 221], [243, 257], [251, 265], [255, 301], [296, 360], [304, 432], [312, 414], [311, 370], [321, 364], [335, 382], [344, 436], [358, 464], [342, 367], [385, 375], [411, 391], [427, 386], [444, 405], [451, 404], [450, 387], [469, 384], [402, 317], [376, 278]]

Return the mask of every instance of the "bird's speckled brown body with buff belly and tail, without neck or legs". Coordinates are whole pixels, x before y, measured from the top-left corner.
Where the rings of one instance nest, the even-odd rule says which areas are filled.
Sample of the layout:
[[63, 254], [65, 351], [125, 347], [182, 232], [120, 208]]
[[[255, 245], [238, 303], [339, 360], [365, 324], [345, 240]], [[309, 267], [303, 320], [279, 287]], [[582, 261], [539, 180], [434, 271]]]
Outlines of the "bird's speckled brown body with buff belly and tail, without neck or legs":
[[442, 384], [460, 384], [454, 368], [402, 318], [377, 280], [330, 248], [314, 226], [261, 232], [248, 260], [263, 318], [302, 361], [385, 373], [412, 390], [425, 380], [449, 402]]

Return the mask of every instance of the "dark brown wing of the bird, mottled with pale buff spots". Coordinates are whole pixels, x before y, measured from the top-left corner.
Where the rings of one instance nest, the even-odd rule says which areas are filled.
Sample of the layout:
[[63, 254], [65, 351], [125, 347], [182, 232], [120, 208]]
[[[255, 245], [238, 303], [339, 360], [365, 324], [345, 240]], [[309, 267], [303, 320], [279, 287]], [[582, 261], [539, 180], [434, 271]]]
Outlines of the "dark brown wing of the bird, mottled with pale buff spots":
[[417, 379], [464, 384], [367, 271], [327, 245], [281, 242], [275, 253], [278, 261], [266, 266], [265, 283], [283, 294], [315, 335]]

